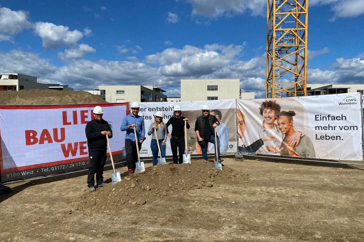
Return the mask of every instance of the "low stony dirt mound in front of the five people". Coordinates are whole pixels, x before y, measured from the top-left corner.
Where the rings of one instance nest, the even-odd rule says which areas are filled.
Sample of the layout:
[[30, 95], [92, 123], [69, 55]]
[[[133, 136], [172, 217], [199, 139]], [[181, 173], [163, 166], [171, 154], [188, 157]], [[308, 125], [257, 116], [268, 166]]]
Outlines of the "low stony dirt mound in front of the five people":
[[[109, 174], [104, 174], [106, 178], [105, 175]], [[192, 189], [208, 189], [218, 184], [237, 184], [246, 180], [248, 177], [235, 173], [229, 167], [223, 167], [222, 171], [215, 170], [213, 163], [203, 160], [193, 161], [192, 164], [158, 165], [146, 168], [143, 173], [122, 177], [122, 181], [115, 185], [109, 183], [95, 192], [87, 191], [77, 200], [80, 202], [78, 209], [111, 212]]]

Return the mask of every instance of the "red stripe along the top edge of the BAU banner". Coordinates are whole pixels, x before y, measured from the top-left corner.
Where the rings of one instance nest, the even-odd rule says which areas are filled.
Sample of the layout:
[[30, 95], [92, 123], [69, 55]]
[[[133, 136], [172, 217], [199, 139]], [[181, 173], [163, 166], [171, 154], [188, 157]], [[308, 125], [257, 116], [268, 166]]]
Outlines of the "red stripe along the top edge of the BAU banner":
[[94, 103], [94, 104], [65, 104], [65, 105], [29, 105], [29, 106], [21, 106], [21, 105], [0, 105], [0, 109], [55, 109], [55, 108], [79, 108], [79, 107], [112, 107], [112, 106], [126, 106], [127, 113], [129, 112], [129, 104], [128, 103]]

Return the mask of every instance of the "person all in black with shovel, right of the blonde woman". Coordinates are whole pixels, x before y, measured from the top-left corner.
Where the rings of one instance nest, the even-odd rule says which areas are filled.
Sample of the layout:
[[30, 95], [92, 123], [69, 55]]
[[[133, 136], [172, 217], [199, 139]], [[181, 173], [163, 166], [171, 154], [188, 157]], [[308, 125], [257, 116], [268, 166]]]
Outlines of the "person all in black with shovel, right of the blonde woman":
[[[188, 123], [188, 119], [182, 117], [181, 107], [179, 105], [175, 105], [173, 107], [173, 116], [168, 120], [167, 126], [167, 134], [171, 139], [171, 150], [173, 155], [173, 163], [174, 164], [182, 164], [183, 162], [183, 153], [185, 153], [185, 120], [186, 120], [186, 128], [190, 128], [190, 124]], [[172, 124], [172, 132], [169, 134], [168, 126]], [[177, 159], [177, 147], [179, 153], [179, 159]]]

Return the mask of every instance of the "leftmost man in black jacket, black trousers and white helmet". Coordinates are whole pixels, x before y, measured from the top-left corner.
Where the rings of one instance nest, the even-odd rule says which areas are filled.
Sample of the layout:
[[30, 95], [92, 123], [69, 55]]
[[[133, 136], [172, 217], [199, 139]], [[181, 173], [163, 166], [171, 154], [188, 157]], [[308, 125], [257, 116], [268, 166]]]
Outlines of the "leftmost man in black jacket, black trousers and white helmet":
[[[94, 108], [95, 119], [86, 124], [86, 138], [88, 147], [88, 156], [90, 157], [90, 168], [88, 168], [87, 186], [90, 192], [95, 188], [103, 187], [104, 183], [103, 169], [106, 163], [106, 147], [108, 138], [112, 138], [112, 131], [109, 124], [102, 119], [103, 110], [100, 106]], [[95, 187], [96, 173], [96, 187]]]

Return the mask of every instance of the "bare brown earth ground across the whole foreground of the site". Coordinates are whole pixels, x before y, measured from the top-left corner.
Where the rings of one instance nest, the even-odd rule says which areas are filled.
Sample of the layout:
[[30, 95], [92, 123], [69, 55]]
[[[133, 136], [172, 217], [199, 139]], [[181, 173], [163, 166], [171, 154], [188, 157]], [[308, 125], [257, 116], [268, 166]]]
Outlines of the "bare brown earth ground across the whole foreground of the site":
[[[86, 172], [11, 184], [13, 192], [0, 196], [0, 241], [364, 241], [361, 167], [234, 159], [223, 164], [222, 179], [211, 179], [213, 163], [201, 168], [205, 177], [187, 171], [189, 165], [178, 165], [178, 173], [167, 164], [175, 176], [171, 186], [171, 180], [158, 180], [164, 173], [148, 168], [151, 190], [142, 174], [113, 186], [110, 170], [104, 172], [107, 186], [93, 193], [86, 190]], [[125, 167], [117, 170], [126, 175]], [[183, 172], [202, 180], [182, 186]], [[146, 203], [132, 205], [144, 192]], [[120, 206], [111, 206], [116, 197]]]

